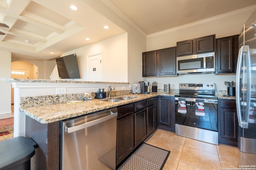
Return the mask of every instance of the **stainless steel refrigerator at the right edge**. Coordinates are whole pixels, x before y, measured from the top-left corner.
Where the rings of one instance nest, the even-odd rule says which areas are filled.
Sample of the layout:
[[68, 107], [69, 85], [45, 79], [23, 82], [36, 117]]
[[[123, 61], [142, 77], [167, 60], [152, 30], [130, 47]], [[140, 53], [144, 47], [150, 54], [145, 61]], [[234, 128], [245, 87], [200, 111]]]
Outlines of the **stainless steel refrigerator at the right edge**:
[[239, 36], [236, 70], [238, 147], [256, 153], [256, 11], [248, 18]]

